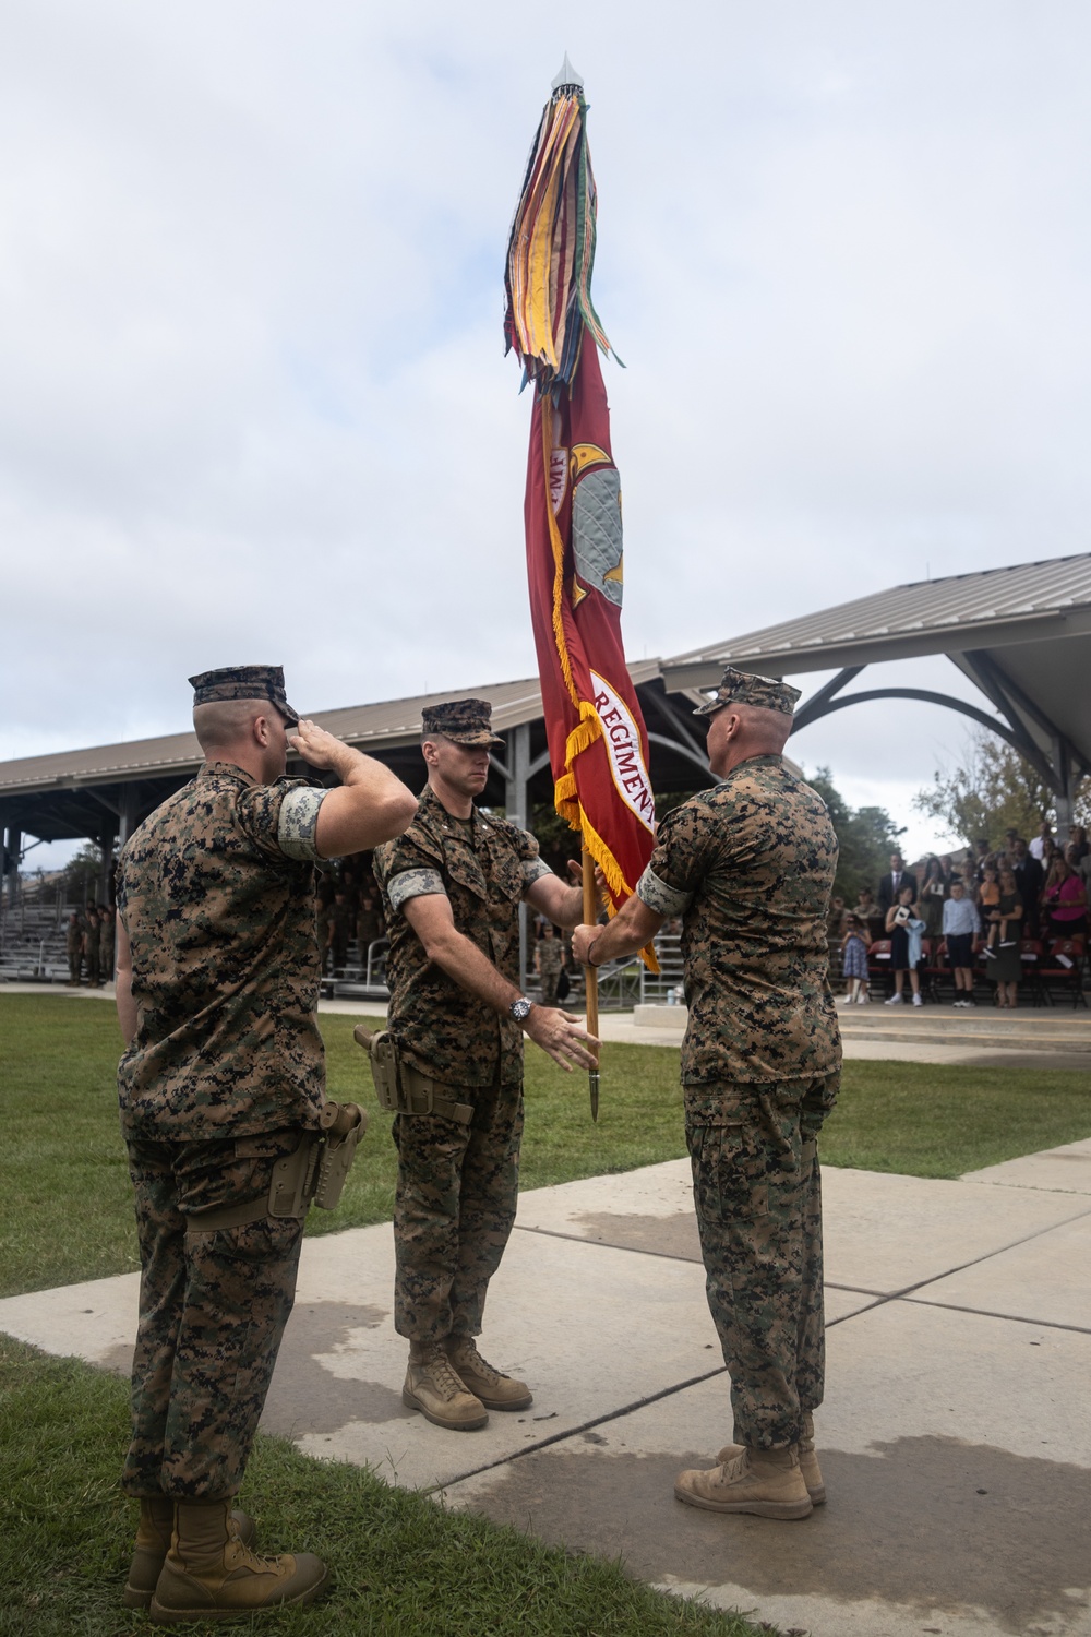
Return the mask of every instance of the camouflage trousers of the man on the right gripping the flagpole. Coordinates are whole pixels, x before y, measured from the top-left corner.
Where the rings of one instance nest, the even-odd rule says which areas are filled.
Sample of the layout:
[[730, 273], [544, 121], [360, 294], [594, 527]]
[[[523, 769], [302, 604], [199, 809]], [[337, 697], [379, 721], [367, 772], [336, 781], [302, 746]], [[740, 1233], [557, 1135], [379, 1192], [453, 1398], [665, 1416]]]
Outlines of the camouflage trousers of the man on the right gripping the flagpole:
[[837, 1076], [685, 1087], [705, 1288], [731, 1375], [734, 1439], [782, 1449], [823, 1401], [816, 1136]]

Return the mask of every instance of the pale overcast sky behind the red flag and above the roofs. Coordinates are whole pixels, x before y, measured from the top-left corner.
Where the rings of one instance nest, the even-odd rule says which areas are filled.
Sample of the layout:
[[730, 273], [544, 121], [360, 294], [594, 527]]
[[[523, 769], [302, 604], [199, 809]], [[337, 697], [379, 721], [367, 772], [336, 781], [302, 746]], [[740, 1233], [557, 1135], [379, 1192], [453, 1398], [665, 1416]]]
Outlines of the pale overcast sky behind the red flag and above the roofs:
[[[0, 758], [182, 730], [218, 665], [316, 714], [533, 673], [502, 275], [564, 49], [630, 658], [1088, 548], [1083, 3], [7, 0], [3, 34]], [[864, 706], [793, 750], [923, 846], [963, 738]]]

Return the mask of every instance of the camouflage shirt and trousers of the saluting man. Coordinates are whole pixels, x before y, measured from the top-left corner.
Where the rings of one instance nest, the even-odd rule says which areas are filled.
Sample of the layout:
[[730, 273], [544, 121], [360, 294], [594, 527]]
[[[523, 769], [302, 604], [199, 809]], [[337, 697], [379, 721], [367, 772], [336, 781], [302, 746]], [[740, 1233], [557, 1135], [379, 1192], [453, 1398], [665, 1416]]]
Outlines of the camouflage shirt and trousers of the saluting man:
[[303, 1221], [201, 1231], [200, 1211], [267, 1195], [322, 1108], [322, 794], [206, 764], [121, 855], [137, 1033], [118, 1084], [141, 1242], [129, 1495], [237, 1491], [291, 1311]]

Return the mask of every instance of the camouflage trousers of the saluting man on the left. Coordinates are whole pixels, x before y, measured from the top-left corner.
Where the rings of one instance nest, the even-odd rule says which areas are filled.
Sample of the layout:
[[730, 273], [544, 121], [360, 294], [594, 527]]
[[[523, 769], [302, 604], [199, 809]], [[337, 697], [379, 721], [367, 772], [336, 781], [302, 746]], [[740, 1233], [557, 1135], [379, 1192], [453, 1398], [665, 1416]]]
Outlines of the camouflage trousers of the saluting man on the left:
[[195, 1210], [268, 1193], [299, 1131], [129, 1143], [141, 1242], [128, 1495], [216, 1498], [242, 1483], [296, 1292], [303, 1221], [186, 1234]]

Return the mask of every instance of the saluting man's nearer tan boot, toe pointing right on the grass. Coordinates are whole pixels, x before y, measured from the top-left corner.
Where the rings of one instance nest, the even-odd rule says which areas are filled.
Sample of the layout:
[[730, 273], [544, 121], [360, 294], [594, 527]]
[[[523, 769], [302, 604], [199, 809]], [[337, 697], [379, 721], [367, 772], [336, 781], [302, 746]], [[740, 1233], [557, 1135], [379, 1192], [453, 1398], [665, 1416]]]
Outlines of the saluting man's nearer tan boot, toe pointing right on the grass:
[[150, 1616], [157, 1626], [234, 1621], [314, 1603], [327, 1578], [326, 1563], [311, 1552], [255, 1557], [239, 1539], [231, 1501], [177, 1501]]

